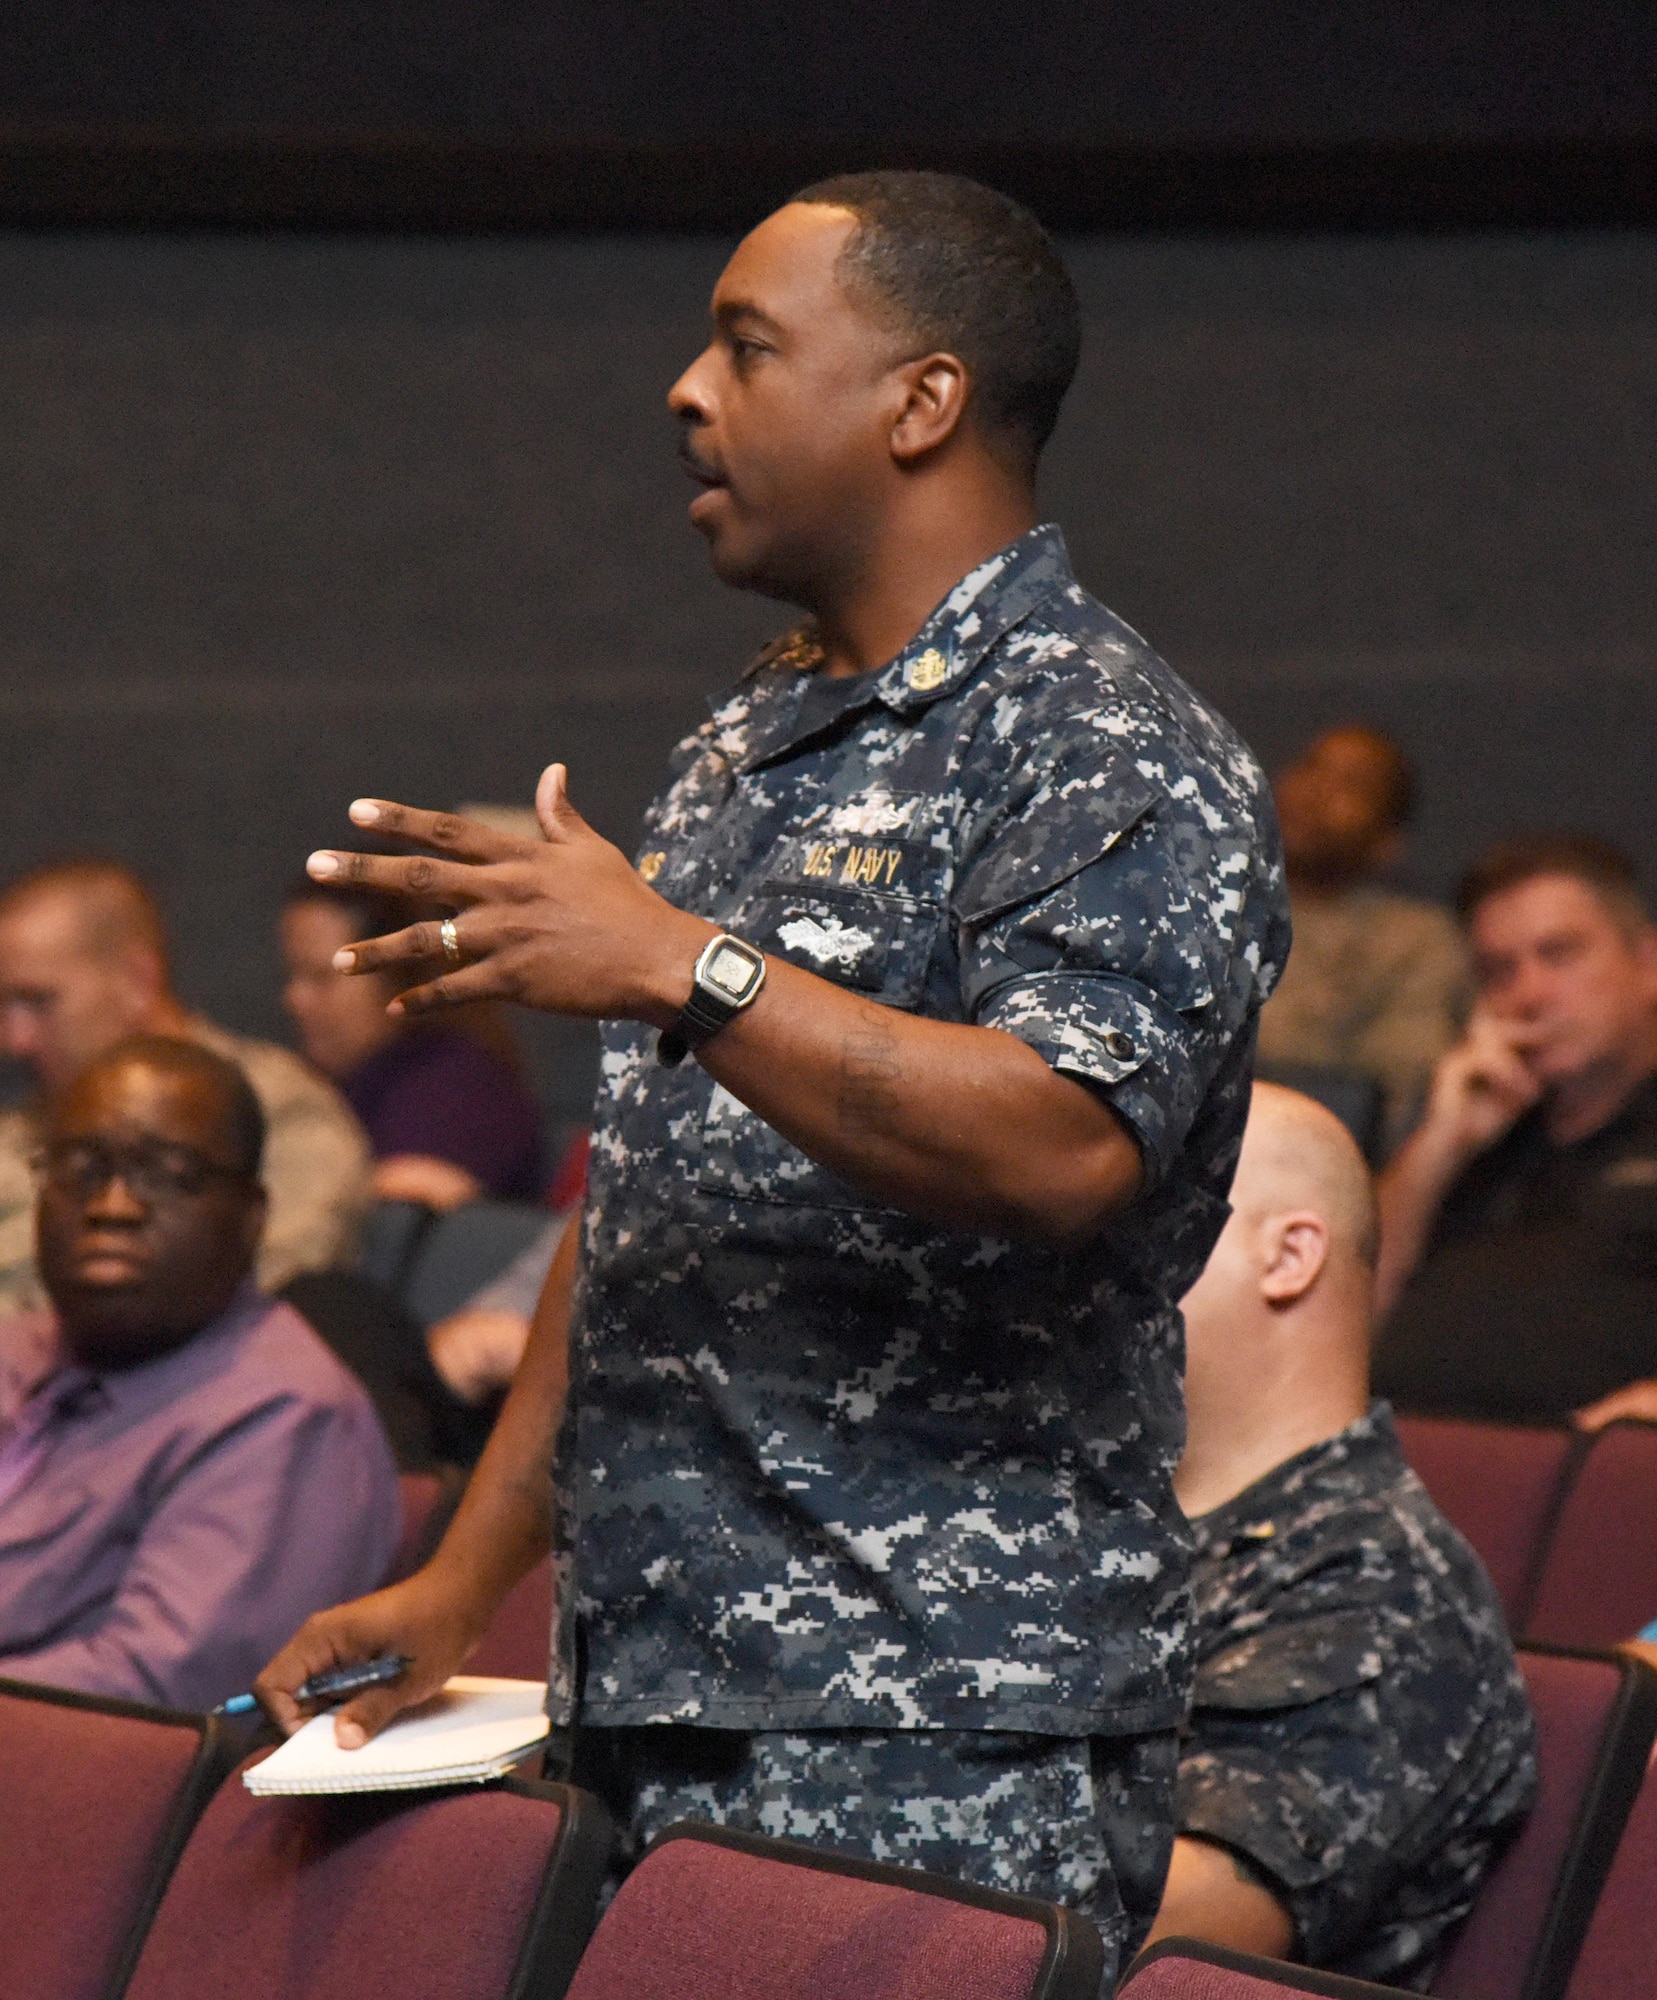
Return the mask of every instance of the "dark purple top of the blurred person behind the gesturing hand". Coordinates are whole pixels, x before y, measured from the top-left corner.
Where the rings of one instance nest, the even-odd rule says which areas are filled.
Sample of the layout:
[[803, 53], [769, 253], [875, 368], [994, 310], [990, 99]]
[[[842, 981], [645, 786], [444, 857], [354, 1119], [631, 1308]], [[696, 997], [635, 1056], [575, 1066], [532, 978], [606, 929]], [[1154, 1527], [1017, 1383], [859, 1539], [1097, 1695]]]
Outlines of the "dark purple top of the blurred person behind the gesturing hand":
[[540, 1112], [514, 1070], [458, 1028], [414, 1028], [340, 1078], [376, 1160], [452, 1160], [500, 1202], [544, 1190]]

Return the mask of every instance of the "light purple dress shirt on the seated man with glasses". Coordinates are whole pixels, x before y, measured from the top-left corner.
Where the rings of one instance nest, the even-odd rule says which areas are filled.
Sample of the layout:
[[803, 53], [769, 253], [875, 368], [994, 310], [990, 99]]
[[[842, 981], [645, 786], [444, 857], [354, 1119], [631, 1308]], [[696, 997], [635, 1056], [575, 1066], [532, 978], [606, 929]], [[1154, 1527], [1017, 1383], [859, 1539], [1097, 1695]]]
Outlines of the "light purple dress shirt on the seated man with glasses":
[[0, 1674], [210, 1708], [372, 1590], [398, 1526], [368, 1394], [248, 1288], [172, 1354], [64, 1370], [24, 1406], [0, 1448]]

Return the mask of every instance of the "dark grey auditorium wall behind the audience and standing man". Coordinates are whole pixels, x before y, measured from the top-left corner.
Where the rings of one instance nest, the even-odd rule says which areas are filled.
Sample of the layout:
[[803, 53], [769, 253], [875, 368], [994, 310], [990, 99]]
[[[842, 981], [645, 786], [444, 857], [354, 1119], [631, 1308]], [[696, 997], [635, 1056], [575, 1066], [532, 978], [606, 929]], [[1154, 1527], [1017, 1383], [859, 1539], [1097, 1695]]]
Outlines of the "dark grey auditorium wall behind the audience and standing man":
[[[1657, 14], [1475, 12], [18, 0], [0, 872], [126, 856], [280, 1032], [354, 794], [558, 756], [630, 842], [784, 616], [708, 576], [662, 394], [728, 230], [891, 160], [1069, 232], [1049, 510], [1269, 762], [1395, 730], [1433, 890], [1559, 820], [1657, 880]], [[534, 1034], [576, 1116], [590, 1038]]]

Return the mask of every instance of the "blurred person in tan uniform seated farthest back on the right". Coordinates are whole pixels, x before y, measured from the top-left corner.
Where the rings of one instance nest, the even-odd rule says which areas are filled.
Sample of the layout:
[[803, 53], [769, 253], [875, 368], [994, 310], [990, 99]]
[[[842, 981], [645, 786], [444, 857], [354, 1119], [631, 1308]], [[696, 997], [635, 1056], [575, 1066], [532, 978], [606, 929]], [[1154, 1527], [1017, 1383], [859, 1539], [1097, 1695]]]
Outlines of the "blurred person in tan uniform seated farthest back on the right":
[[1275, 788], [1295, 948], [1261, 1014], [1263, 1068], [1359, 1070], [1385, 1090], [1385, 1140], [1421, 1108], [1467, 1006], [1451, 918], [1377, 878], [1397, 864], [1415, 804], [1403, 750], [1367, 728], [1329, 730]]

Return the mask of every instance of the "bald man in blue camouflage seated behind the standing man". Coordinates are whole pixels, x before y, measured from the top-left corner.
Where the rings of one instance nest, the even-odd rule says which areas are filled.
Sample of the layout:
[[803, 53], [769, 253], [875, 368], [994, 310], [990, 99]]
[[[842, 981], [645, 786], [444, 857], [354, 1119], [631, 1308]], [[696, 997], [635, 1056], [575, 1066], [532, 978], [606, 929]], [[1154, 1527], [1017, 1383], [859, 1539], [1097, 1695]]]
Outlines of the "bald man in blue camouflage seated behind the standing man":
[[1531, 1708], [1479, 1558], [1369, 1400], [1357, 1146], [1257, 1084], [1231, 1204], [1185, 1298], [1199, 1664], [1153, 1936], [1417, 1986], [1529, 1810]]

